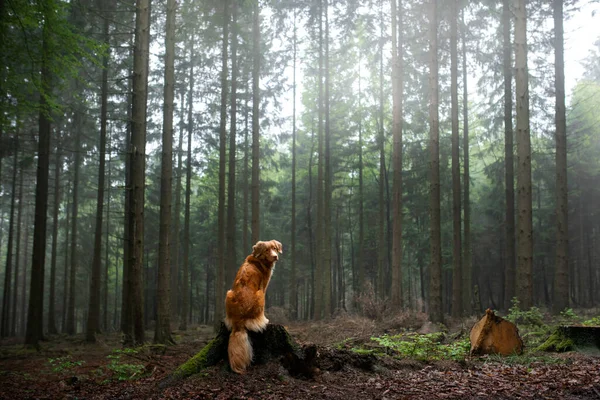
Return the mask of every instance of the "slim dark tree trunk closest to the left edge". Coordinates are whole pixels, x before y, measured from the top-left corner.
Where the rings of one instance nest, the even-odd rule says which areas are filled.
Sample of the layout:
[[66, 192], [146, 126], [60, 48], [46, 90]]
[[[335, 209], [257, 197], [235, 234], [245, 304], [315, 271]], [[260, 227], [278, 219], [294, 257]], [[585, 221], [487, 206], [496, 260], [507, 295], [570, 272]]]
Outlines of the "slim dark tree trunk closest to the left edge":
[[[5, 338], [11, 333], [11, 291], [13, 294], [17, 291], [17, 280], [15, 278], [14, 285], [11, 285], [12, 273], [12, 257], [13, 257], [13, 240], [15, 237], [15, 197], [17, 194], [17, 162], [19, 160], [18, 139], [15, 140], [15, 149], [13, 155], [13, 171], [12, 171], [12, 192], [10, 194], [10, 217], [8, 221], [8, 246], [6, 252], [6, 269], [4, 270], [4, 292], [2, 293], [2, 324], [0, 325], [0, 337]], [[17, 268], [17, 267], [15, 267]], [[14, 304], [14, 300], [13, 300]], [[15, 315], [12, 313], [14, 320]]]

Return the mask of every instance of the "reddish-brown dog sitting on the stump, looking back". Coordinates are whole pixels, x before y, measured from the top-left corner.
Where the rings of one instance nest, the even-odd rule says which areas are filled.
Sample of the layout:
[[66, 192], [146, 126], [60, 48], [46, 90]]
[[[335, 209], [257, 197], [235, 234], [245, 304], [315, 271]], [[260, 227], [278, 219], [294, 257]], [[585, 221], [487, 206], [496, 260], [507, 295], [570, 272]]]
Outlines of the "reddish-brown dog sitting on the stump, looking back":
[[243, 374], [252, 362], [248, 331], [262, 332], [269, 323], [265, 317], [265, 294], [278, 253], [283, 253], [283, 248], [277, 240], [256, 242], [225, 297], [225, 325], [231, 331], [229, 365], [238, 374]]

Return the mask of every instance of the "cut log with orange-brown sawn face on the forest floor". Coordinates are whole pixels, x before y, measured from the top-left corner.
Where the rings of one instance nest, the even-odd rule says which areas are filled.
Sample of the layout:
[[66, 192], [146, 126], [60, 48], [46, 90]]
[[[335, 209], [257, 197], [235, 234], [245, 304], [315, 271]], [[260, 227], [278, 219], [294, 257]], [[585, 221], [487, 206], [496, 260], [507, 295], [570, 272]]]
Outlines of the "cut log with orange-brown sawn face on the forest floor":
[[473, 328], [471, 328], [472, 356], [483, 354], [521, 354], [523, 340], [516, 325], [498, 317], [489, 308]]

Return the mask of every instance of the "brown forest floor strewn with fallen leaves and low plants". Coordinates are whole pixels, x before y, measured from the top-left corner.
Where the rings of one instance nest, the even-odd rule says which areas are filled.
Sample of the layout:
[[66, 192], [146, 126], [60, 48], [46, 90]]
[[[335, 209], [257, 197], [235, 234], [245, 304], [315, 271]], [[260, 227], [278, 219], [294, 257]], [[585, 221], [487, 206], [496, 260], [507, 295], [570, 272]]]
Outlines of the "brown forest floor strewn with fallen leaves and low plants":
[[[116, 333], [99, 335], [93, 345], [83, 336], [51, 336], [40, 351], [4, 340], [0, 399], [600, 399], [598, 351], [527, 350], [522, 356], [471, 359], [466, 349], [474, 318], [440, 334], [432, 334], [436, 329], [423, 318], [400, 319], [377, 323], [343, 316], [288, 324], [299, 343], [318, 346], [320, 370], [312, 379], [290, 376], [278, 361], [253, 365], [245, 375], [230, 372], [222, 362], [166, 388], [160, 382], [214, 337], [212, 328], [193, 326], [174, 333], [176, 345], [136, 350], [123, 349]], [[421, 335], [400, 325], [414, 325]], [[413, 356], [399, 356], [406, 348], [385, 347], [402, 332], [412, 338]], [[439, 343], [430, 340], [432, 335]], [[448, 357], [436, 350], [443, 342], [450, 346], [444, 347], [451, 350], [444, 353]], [[423, 353], [424, 348], [429, 350]], [[352, 362], [353, 354], [370, 362]]]

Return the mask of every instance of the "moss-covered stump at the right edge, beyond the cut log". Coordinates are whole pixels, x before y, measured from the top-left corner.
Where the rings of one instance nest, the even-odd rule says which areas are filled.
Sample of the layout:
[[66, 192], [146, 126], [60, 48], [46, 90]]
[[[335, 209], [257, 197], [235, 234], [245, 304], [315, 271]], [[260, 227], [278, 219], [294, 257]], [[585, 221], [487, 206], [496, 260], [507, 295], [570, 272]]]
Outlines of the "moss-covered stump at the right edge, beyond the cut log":
[[600, 350], [600, 326], [559, 326], [538, 350], [565, 352], [584, 348]]

